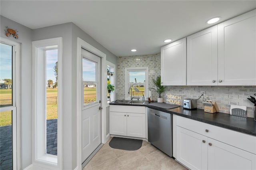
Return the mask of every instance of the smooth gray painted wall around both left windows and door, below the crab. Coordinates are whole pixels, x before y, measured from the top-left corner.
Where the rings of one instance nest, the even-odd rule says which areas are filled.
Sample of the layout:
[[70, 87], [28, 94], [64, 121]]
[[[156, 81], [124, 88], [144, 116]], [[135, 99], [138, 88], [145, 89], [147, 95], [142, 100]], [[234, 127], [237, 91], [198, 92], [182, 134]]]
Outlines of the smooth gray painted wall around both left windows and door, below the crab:
[[[77, 166], [77, 129], [76, 129], [76, 53], [77, 37], [90, 43], [106, 54], [106, 59], [114, 64], [117, 57], [96, 42], [73, 23], [60, 24], [31, 30], [8, 18], [1, 16], [1, 26], [17, 29], [21, 43], [21, 168], [32, 164], [32, 41], [62, 37], [63, 40], [63, 169], [74, 169]], [[1, 29], [1, 37], [5, 36]], [[71, 80], [71, 81], [70, 81]], [[71, 88], [70, 88], [71, 87]], [[25, 102], [26, 101], [26, 102]]]

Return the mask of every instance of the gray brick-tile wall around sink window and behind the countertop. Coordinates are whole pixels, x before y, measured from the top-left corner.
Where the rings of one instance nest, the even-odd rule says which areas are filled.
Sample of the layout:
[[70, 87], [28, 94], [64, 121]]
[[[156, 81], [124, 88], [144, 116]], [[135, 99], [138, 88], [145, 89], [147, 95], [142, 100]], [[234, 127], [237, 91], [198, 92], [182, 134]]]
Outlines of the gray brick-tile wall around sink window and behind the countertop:
[[[136, 58], [140, 58], [137, 61]], [[160, 53], [152, 55], [140, 55], [140, 56], [126, 56], [118, 57], [117, 77], [118, 77], [118, 97], [117, 99], [124, 99], [124, 69], [125, 67], [148, 67], [149, 68], [149, 87], [154, 87], [152, 84], [152, 78], [156, 75], [160, 75], [161, 69], [161, 57]], [[230, 113], [230, 105], [242, 105], [247, 107], [247, 116], [253, 117], [253, 103], [251, 103], [247, 97], [254, 96], [256, 93], [256, 86], [168, 86], [163, 93], [164, 102], [168, 103], [168, 95], [181, 96], [180, 104], [182, 105], [183, 99], [200, 97], [200, 91], [206, 91], [206, 95], [210, 99], [217, 102], [217, 105], [222, 113]], [[152, 91], [153, 100], [157, 95]], [[198, 100], [197, 107], [203, 109], [202, 100]]]

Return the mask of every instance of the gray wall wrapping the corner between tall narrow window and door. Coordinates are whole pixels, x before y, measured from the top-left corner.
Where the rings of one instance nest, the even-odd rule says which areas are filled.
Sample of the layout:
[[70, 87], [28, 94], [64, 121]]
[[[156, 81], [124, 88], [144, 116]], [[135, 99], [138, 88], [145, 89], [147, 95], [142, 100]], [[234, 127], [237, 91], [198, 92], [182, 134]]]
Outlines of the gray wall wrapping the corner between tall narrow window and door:
[[[117, 62], [114, 54], [96, 42], [73, 23], [60, 24], [33, 30], [33, 41], [48, 38], [63, 38], [63, 168], [74, 169], [77, 166], [77, 129], [76, 129], [76, 83], [77, 82], [77, 38], [81, 38], [90, 45], [106, 54], [106, 59]], [[71, 80], [71, 81], [70, 81]], [[71, 88], [70, 88], [71, 87]], [[59, 113], [60, 114], [60, 113]]]

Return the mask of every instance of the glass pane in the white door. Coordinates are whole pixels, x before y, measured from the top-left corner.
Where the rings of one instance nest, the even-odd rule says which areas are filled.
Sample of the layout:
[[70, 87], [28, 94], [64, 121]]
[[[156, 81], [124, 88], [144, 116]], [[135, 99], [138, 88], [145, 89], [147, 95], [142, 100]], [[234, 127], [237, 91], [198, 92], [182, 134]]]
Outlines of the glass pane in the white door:
[[97, 101], [96, 63], [83, 58], [84, 105]]

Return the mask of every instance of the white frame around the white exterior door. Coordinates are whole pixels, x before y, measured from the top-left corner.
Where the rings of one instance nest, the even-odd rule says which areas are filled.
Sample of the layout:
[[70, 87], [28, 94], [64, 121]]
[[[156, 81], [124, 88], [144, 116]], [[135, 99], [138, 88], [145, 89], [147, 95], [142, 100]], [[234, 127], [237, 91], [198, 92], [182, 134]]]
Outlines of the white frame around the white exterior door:
[[82, 57], [81, 57], [81, 48], [86, 49], [87, 51], [90, 51], [91, 53], [94, 53], [95, 55], [98, 55], [101, 57], [101, 104], [102, 104], [102, 110], [101, 110], [101, 142], [106, 142], [106, 96], [107, 96], [107, 87], [104, 85], [104, 82], [107, 82], [107, 70], [106, 70], [106, 54], [102, 53], [97, 48], [93, 47], [89, 43], [85, 42], [81, 38], [77, 38], [77, 166], [78, 169], [82, 169], [82, 123], [81, 123], [81, 114], [82, 114], [82, 108], [83, 108], [83, 97], [82, 97]]

